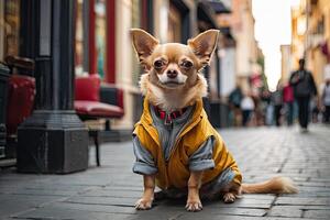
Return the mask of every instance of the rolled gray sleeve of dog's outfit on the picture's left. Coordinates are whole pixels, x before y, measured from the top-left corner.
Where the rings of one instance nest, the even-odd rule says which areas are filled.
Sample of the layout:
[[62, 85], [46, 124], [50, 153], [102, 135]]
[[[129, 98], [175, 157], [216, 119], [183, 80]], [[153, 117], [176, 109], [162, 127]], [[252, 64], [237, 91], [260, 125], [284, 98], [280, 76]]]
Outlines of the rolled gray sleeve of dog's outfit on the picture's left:
[[155, 166], [152, 155], [141, 145], [136, 135], [133, 135], [133, 151], [136, 157], [133, 165], [134, 173], [142, 175], [152, 175], [157, 173], [157, 167]]

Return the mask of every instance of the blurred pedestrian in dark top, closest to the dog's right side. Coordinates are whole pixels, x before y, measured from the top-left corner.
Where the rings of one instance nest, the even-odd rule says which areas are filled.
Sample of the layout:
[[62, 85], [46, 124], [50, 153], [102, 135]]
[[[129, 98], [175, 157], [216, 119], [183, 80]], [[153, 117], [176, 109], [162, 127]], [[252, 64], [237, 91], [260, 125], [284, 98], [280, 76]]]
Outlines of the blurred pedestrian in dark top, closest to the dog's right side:
[[243, 99], [243, 94], [241, 87], [238, 85], [234, 90], [232, 90], [228, 97], [229, 106], [233, 111], [234, 125], [240, 125], [241, 119], [241, 101]]

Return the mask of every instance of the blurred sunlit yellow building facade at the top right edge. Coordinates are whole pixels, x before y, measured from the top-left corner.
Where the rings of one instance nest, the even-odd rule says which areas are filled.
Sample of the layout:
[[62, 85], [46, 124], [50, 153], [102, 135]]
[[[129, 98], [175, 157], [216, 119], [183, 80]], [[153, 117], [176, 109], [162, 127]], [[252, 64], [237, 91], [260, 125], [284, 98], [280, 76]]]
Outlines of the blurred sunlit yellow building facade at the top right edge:
[[301, 0], [292, 9], [292, 61], [305, 57], [320, 88], [330, 66], [330, 1]]

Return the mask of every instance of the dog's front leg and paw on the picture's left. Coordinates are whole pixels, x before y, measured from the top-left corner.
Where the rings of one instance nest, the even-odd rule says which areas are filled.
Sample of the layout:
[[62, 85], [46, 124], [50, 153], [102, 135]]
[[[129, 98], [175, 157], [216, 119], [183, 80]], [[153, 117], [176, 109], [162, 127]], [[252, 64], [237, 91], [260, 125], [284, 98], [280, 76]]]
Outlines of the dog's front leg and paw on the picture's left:
[[143, 183], [144, 183], [143, 196], [135, 204], [135, 209], [138, 210], [151, 209], [154, 200], [155, 176], [143, 175]]

